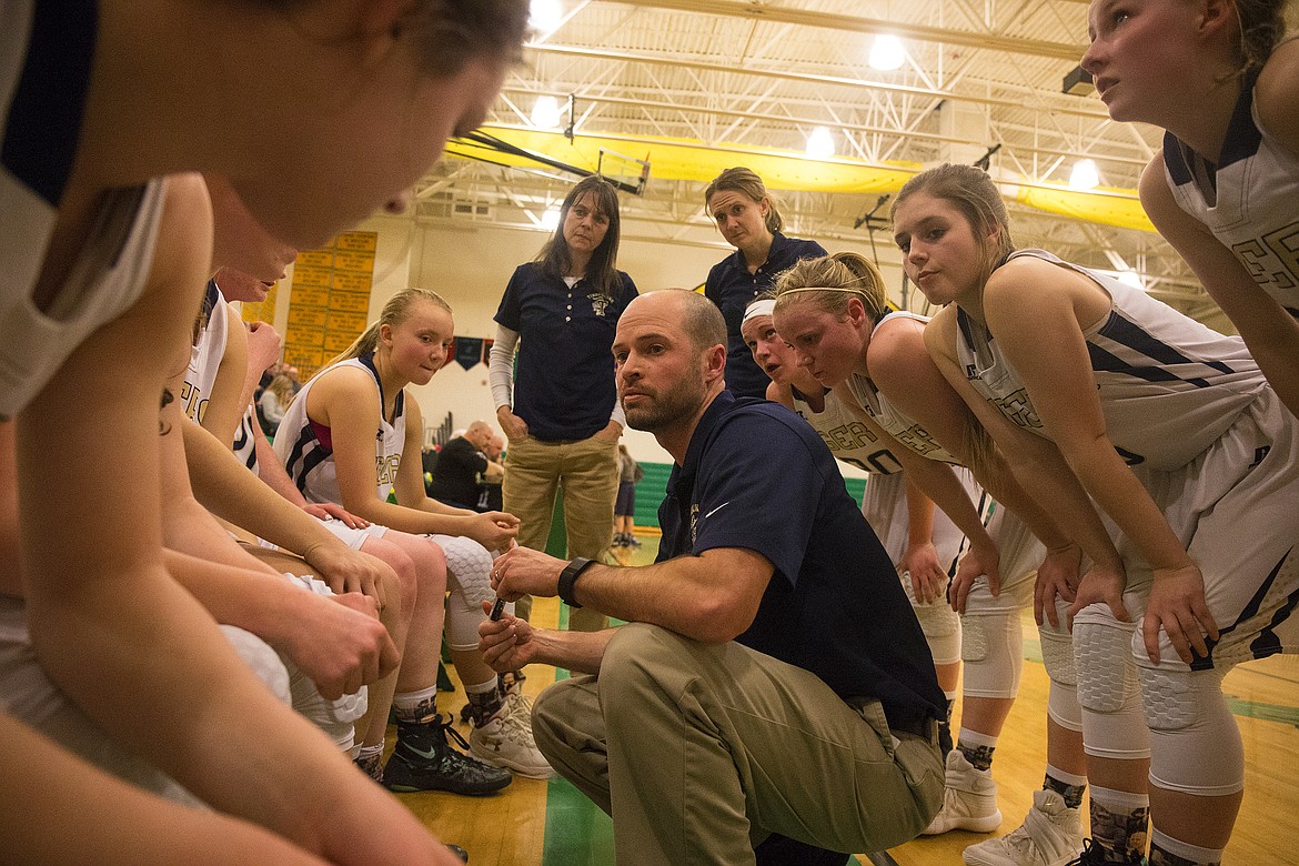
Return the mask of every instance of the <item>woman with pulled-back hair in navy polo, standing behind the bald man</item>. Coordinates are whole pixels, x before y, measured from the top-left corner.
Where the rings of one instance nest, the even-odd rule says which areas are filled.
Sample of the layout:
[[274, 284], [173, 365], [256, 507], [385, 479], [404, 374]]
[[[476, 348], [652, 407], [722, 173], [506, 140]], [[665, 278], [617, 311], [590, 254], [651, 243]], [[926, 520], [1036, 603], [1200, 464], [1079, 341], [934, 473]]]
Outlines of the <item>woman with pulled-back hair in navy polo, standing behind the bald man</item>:
[[704, 283], [704, 296], [726, 319], [726, 390], [737, 397], [765, 397], [770, 379], [753, 364], [739, 332], [744, 309], [776, 284], [782, 270], [826, 252], [814, 240], [781, 234], [785, 219], [752, 169], [726, 169], [713, 178], [704, 190], [704, 210], [735, 248], [713, 265]]

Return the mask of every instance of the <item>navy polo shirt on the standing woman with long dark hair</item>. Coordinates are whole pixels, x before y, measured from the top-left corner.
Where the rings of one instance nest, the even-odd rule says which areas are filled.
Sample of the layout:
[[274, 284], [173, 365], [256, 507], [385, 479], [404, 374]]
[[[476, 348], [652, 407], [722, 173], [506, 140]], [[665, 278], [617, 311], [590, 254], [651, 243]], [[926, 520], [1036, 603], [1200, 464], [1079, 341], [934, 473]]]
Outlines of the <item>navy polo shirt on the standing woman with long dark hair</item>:
[[637, 296], [621, 270], [613, 297], [585, 278], [573, 288], [529, 262], [514, 269], [496, 323], [518, 331], [513, 412], [543, 441], [590, 439], [613, 414], [613, 332]]

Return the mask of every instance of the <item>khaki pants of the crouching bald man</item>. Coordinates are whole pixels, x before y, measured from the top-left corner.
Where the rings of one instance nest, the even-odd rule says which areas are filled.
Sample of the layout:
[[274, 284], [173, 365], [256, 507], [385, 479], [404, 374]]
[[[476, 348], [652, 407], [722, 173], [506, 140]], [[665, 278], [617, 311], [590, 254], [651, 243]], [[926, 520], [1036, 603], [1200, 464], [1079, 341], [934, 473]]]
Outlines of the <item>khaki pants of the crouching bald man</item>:
[[547, 688], [536, 745], [613, 817], [620, 866], [753, 863], [772, 832], [843, 852], [913, 839], [943, 800], [934, 737], [891, 735], [813, 674], [631, 623], [600, 676]]

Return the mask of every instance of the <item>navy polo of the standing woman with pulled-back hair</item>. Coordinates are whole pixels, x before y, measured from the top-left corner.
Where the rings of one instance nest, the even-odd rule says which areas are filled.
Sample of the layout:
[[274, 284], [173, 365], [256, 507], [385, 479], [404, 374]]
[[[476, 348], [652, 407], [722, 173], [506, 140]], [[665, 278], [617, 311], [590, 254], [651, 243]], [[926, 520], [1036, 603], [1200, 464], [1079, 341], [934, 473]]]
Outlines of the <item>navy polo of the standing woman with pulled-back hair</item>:
[[825, 256], [825, 248], [814, 240], [786, 238], [776, 232], [766, 261], [748, 273], [744, 253], [735, 251], [708, 271], [704, 295], [722, 312], [726, 319], [726, 390], [737, 397], [763, 397], [770, 379], [753, 364], [753, 356], [744, 345], [739, 326], [744, 322], [744, 309], [753, 299], [772, 290], [776, 278], [800, 258]]

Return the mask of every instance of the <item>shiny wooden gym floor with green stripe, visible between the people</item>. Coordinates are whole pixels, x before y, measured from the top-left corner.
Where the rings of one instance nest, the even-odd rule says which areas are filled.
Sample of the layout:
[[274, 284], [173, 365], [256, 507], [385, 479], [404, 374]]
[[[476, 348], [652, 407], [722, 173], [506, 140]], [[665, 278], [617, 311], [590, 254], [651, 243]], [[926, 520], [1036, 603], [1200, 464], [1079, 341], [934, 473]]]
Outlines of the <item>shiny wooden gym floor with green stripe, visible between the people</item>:
[[[657, 538], [640, 536], [643, 547], [627, 556], [640, 565], [655, 557]], [[555, 627], [560, 604], [538, 599], [533, 621]], [[1020, 826], [1042, 786], [1046, 767], [1047, 676], [1031, 612], [1024, 623], [1024, 676], [1018, 700], [996, 748], [992, 774], [1004, 817], [998, 835]], [[455, 670], [451, 671], [455, 678]], [[560, 671], [565, 676], [566, 671]], [[553, 667], [527, 670], [525, 693], [535, 697], [555, 682]], [[1299, 865], [1299, 657], [1273, 657], [1231, 671], [1225, 683], [1244, 739], [1246, 789], [1235, 834], [1224, 863], [1233, 866]], [[443, 713], [459, 717], [464, 692], [439, 695]], [[960, 704], [953, 732], [960, 724]], [[457, 726], [468, 739], [468, 726]], [[388, 743], [396, 736], [390, 730]], [[562, 779], [538, 782], [516, 778], [501, 793], [457, 797], [447, 793], [397, 795], [423, 823], [446, 841], [464, 845], [472, 866], [612, 866], [613, 830], [609, 818]], [[1286, 817], [1289, 815], [1289, 818]], [[966, 845], [983, 834], [951, 832], [921, 837], [889, 854], [902, 866], [961, 863]], [[857, 857], [869, 863], [865, 857]]]

